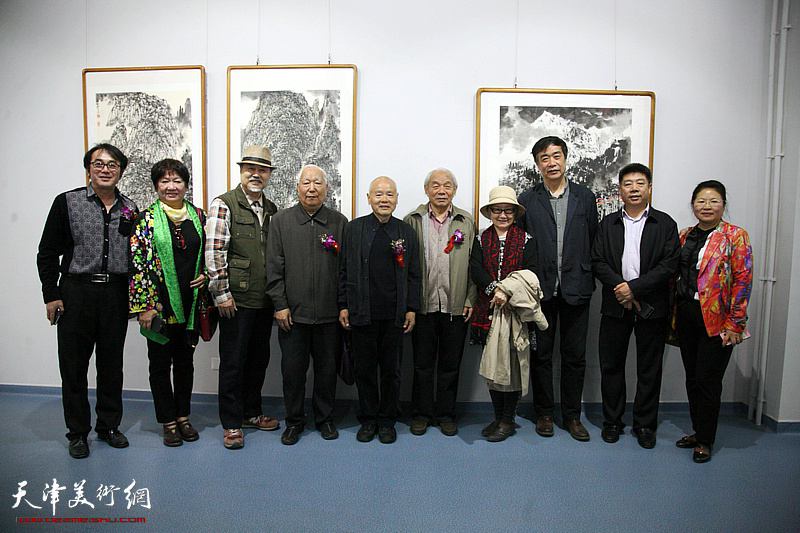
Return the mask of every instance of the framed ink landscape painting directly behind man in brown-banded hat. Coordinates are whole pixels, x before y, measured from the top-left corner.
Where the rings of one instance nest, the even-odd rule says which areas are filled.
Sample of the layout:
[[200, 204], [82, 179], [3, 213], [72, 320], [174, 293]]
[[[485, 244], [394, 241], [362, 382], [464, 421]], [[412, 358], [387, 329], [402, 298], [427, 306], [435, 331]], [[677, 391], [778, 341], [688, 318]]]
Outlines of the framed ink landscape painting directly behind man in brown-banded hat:
[[297, 203], [297, 173], [314, 164], [328, 175], [325, 205], [355, 215], [355, 65], [228, 67], [228, 188], [251, 145], [272, 153], [267, 197], [279, 209]]

